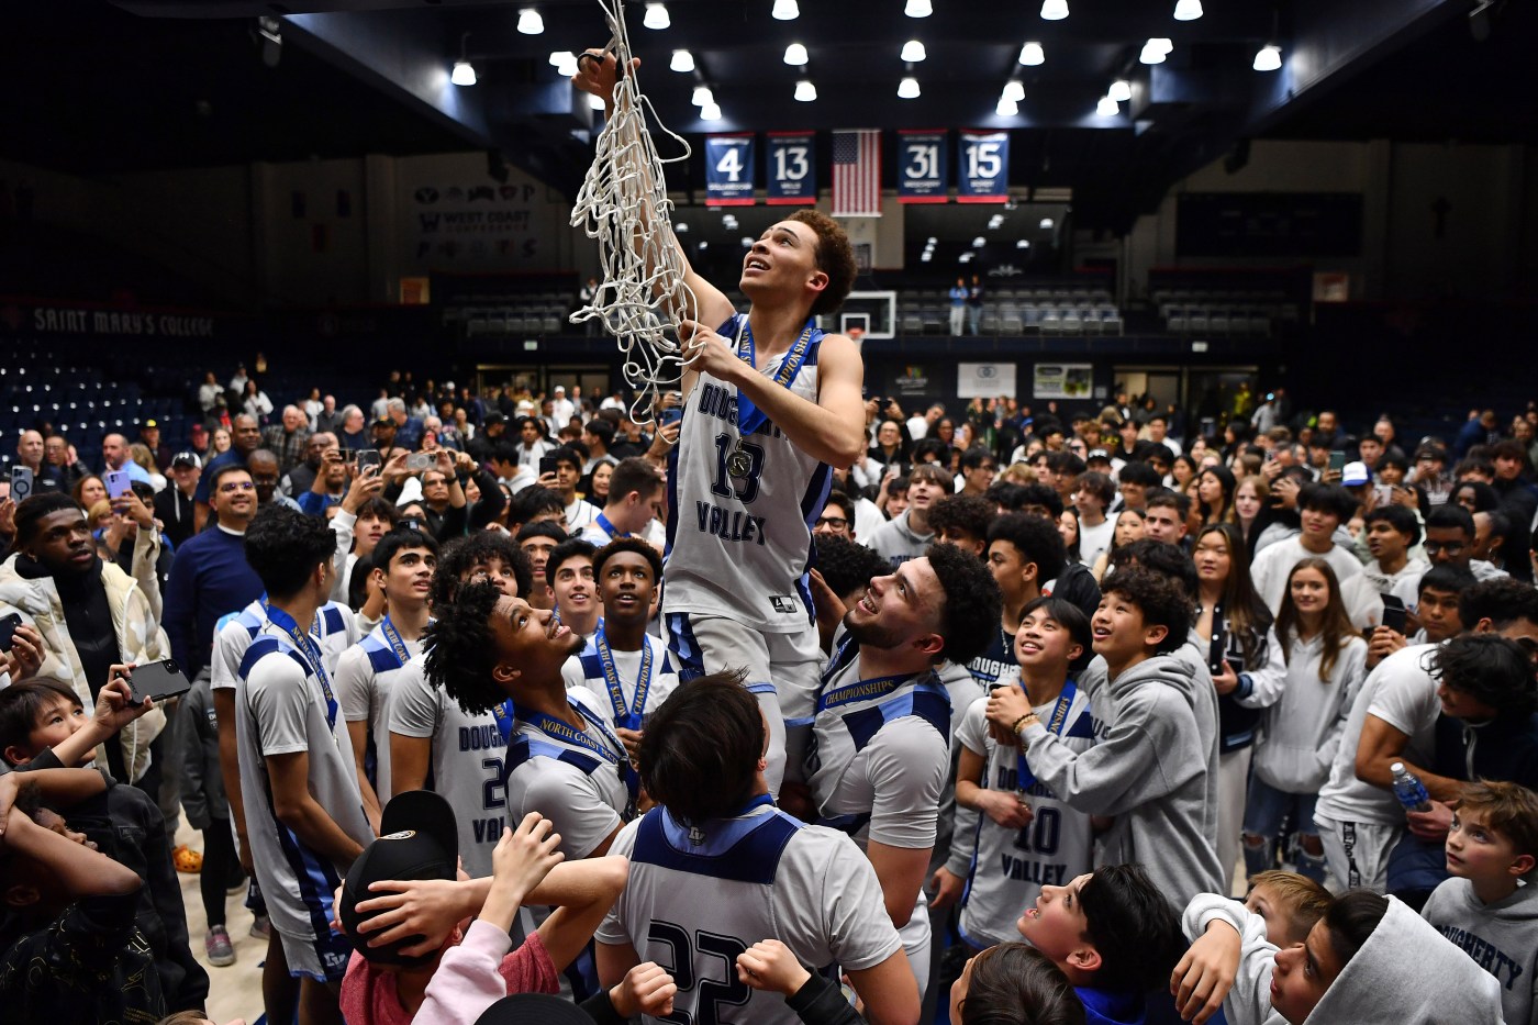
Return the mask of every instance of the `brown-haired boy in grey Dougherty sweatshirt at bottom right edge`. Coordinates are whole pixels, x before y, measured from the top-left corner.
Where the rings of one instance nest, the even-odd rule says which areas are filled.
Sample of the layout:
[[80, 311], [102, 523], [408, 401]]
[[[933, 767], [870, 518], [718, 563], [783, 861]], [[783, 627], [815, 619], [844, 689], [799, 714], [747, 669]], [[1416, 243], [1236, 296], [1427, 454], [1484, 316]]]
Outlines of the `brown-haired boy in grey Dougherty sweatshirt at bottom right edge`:
[[1447, 873], [1421, 917], [1501, 983], [1507, 1022], [1530, 1022], [1538, 987], [1538, 794], [1481, 782], [1463, 791], [1447, 831]]

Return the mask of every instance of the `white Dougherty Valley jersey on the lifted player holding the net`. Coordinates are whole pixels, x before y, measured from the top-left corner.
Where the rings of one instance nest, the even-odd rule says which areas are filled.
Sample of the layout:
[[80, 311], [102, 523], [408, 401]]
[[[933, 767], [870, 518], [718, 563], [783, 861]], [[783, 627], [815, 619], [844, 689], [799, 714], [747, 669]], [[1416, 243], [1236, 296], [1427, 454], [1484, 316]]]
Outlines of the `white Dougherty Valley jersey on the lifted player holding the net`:
[[[727, 320], [720, 334], [738, 339], [747, 317]], [[801, 366], [789, 382], [817, 402], [821, 332], [812, 331]], [[769, 360], [775, 377], [795, 346]], [[737, 388], [700, 374], [684, 402], [678, 445], [667, 471], [667, 563], [663, 611], [729, 616], [767, 633], [795, 633], [812, 622], [806, 571], [812, 523], [832, 482], [832, 469], [807, 456], [766, 420], [743, 436]]]

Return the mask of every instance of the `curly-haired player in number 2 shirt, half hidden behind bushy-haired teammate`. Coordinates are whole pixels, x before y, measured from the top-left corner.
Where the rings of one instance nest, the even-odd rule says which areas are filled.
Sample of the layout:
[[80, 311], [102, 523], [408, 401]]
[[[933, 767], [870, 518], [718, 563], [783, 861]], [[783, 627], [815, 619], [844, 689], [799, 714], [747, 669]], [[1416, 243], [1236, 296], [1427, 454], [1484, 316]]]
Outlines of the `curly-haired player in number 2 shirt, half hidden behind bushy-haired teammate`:
[[[444, 545], [432, 576], [432, 603], [446, 608], [466, 583], [489, 582], [518, 597], [532, 582], [529, 560], [506, 534], [480, 533]], [[458, 810], [458, 850], [464, 871], [492, 874], [492, 851], [506, 820], [503, 751], [506, 742], [489, 711], [468, 713], [423, 673], [406, 663], [389, 702], [391, 796], [432, 790]]]

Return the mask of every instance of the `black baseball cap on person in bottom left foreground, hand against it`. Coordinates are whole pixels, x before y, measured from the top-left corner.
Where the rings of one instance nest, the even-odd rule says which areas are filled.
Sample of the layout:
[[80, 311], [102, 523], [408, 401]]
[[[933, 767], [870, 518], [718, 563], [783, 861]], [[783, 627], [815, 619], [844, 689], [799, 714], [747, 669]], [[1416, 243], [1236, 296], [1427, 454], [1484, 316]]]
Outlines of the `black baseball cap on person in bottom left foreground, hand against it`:
[[460, 860], [458, 823], [454, 808], [431, 790], [395, 794], [380, 817], [380, 837], [363, 848], [341, 886], [338, 917], [352, 948], [375, 965], [424, 965], [437, 951], [406, 957], [403, 947], [420, 943], [421, 936], [408, 936], [386, 947], [369, 947], [358, 925], [372, 916], [360, 916], [357, 905], [377, 894], [369, 886], [388, 879], [454, 879]]

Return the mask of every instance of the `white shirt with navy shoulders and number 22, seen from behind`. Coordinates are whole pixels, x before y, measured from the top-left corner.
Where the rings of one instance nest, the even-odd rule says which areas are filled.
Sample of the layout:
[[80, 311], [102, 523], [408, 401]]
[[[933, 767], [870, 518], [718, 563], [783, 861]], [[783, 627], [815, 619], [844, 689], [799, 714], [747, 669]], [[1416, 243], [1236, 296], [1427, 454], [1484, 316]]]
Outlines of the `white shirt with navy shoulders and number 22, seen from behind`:
[[628, 943], [675, 979], [692, 977], [674, 997], [689, 1020], [801, 1020], [781, 994], [737, 977], [737, 956], [761, 939], [781, 940], [814, 970], [846, 971], [874, 968], [901, 945], [875, 870], [849, 837], [767, 803], [697, 831], [654, 808], [624, 826], [609, 853], [631, 859], [631, 876], [595, 939]]

